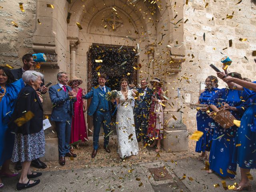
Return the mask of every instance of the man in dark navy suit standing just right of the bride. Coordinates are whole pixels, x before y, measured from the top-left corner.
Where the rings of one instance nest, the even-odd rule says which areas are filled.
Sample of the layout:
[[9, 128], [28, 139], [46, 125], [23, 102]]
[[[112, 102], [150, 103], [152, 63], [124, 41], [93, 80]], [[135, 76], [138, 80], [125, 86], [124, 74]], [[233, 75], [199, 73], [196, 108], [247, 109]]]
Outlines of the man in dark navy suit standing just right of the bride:
[[138, 88], [140, 94], [140, 99], [137, 100], [134, 106], [134, 122], [135, 122], [135, 132], [137, 141], [140, 142], [140, 134], [142, 132], [144, 138], [147, 135], [148, 130], [148, 116], [152, 97], [152, 90], [148, 88], [148, 82], [145, 78], [140, 81], [141, 88]]

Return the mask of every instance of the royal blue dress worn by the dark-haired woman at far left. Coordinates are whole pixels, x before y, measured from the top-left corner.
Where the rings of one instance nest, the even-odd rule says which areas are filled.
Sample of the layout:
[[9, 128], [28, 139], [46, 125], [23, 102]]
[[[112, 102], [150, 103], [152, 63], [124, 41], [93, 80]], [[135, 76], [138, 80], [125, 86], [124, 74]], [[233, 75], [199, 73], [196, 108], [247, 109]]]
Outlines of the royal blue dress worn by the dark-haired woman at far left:
[[8, 129], [8, 122], [14, 110], [20, 90], [24, 87], [22, 79], [6, 84], [6, 94], [0, 102], [0, 166], [12, 157], [14, 134]]

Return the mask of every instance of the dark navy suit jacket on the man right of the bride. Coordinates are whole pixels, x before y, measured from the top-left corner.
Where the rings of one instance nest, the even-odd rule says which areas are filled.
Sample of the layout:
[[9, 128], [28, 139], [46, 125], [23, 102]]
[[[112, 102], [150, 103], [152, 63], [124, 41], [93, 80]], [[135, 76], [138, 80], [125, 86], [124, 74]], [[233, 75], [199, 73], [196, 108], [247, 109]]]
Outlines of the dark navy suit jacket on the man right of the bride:
[[[142, 93], [144, 94], [144, 90], [142, 88], [139, 88], [138, 92], [140, 94], [142, 94]], [[140, 101], [136, 101], [136, 104], [134, 106], [134, 112], [136, 114], [140, 114], [140, 112], [142, 112], [143, 114], [148, 114], [148, 110], [150, 108], [150, 103], [151, 103], [152, 93], [153, 93], [152, 89], [147, 88], [146, 95], [145, 95], [144, 99], [140, 100]], [[142, 98], [142, 96], [140, 96], [140, 98]]]

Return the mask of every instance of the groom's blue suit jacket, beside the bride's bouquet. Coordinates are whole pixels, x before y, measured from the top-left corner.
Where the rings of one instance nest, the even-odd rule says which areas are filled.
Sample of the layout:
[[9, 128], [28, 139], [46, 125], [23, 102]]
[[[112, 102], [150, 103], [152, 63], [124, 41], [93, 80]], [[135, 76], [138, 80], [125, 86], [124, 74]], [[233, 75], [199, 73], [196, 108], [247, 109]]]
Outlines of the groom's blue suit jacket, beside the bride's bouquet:
[[[106, 87], [106, 93], [110, 92], [111, 89], [107, 86]], [[98, 108], [98, 104], [100, 102], [100, 98], [102, 98], [102, 90], [100, 89], [100, 87], [98, 86], [98, 88], [92, 88], [90, 90], [90, 92], [88, 92], [85, 96], [83, 96], [83, 99], [89, 99], [92, 97], [92, 101], [90, 103], [90, 106], [88, 108], [88, 115], [92, 116], [94, 114], [94, 112], [97, 110]], [[106, 98], [104, 98], [106, 99]], [[109, 110], [111, 111], [111, 104], [110, 102], [108, 102], [108, 107]]]

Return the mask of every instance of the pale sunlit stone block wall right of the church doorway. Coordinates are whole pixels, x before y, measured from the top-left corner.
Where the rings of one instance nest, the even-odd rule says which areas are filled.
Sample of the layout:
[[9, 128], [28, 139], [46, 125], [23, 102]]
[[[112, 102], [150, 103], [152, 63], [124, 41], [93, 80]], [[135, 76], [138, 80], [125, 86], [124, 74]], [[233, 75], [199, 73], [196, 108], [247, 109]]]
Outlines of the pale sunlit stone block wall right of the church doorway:
[[[189, 80], [184, 79], [179, 83], [179, 102], [180, 106], [186, 107], [182, 109], [185, 114], [183, 122], [190, 132], [196, 130], [196, 110], [191, 110], [187, 103], [184, 104], [185, 94], [191, 94], [192, 103], [198, 101], [200, 82], [204, 82], [207, 76], [216, 74], [209, 64], [221, 69], [220, 60], [227, 55], [233, 60], [228, 68], [229, 72], [239, 72], [243, 77], [255, 80], [256, 64], [252, 51], [256, 50], [256, 6], [250, 0], [240, 4], [236, 4], [237, 2], [238, 0], [189, 0], [188, 5], [184, 5], [184, 21], [188, 19], [184, 24], [186, 62], [182, 65], [180, 78], [184, 76]], [[227, 14], [233, 17], [226, 18]], [[240, 38], [248, 40], [241, 42]], [[232, 40], [231, 47], [229, 40]], [[225, 87], [223, 82], [219, 85]]]

